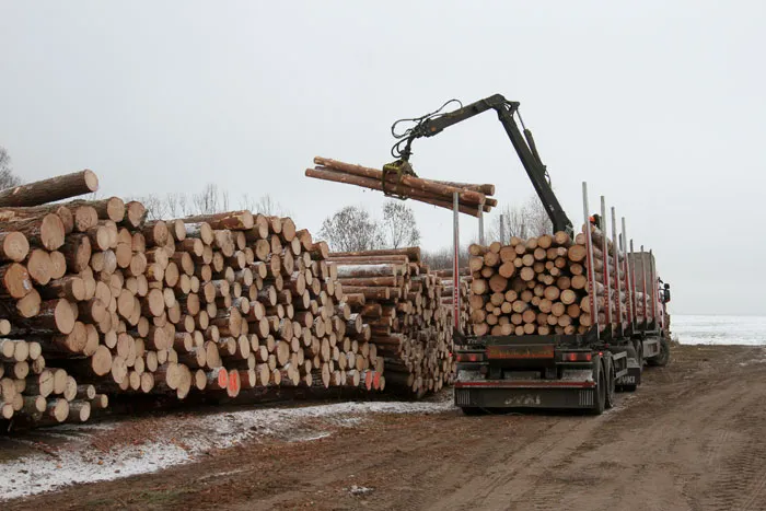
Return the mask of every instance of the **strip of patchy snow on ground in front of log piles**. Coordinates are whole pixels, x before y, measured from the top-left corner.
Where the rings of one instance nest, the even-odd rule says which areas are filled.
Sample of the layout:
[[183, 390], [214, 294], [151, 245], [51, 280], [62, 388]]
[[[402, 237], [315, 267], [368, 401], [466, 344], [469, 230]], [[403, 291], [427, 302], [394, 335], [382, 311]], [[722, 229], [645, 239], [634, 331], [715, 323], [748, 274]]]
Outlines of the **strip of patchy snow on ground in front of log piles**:
[[95, 446], [97, 441], [108, 439], [120, 426], [125, 426], [124, 422], [61, 426], [42, 433], [57, 442], [63, 441], [55, 449], [39, 449], [39, 443], [25, 439], [7, 440], [14, 443], [14, 448], [30, 448], [32, 454], [0, 461], [0, 501], [68, 485], [161, 471], [193, 462], [205, 452], [227, 449], [247, 439], [271, 437], [306, 442], [332, 434], [322, 431], [321, 426], [304, 423], [312, 419], [321, 419], [321, 425], [327, 427], [353, 427], [363, 422], [367, 414], [439, 414], [452, 408], [451, 396], [444, 395], [441, 400], [428, 403], [338, 403], [301, 408], [242, 409], [205, 416], [169, 416], [161, 419], [161, 439], [140, 445], [117, 443], [106, 451]]

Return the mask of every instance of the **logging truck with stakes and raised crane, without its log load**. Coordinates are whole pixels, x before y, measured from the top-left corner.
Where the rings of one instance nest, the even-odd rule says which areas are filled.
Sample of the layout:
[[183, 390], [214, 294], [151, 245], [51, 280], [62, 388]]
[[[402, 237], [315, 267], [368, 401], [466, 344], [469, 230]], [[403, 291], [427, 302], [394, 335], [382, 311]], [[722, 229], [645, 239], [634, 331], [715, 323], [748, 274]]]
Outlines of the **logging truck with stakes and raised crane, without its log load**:
[[[546, 166], [543, 164], [532, 132], [519, 114], [518, 102], [500, 94], [461, 106], [452, 112], [442, 108], [414, 119], [415, 126], [402, 133], [392, 132], [397, 142], [392, 148], [396, 161], [384, 166], [385, 173], [415, 175], [409, 159], [416, 139], [432, 137], [445, 128], [488, 111], [495, 111], [544, 206], [554, 232], [573, 237], [572, 222], [561, 208]], [[460, 103], [460, 102], [459, 102]], [[519, 128], [517, 118], [523, 129]], [[466, 415], [502, 408], [584, 409], [601, 414], [614, 405], [615, 392], [632, 392], [641, 383], [645, 364], [664, 365], [670, 360], [670, 334], [666, 303], [670, 284], [657, 274], [652, 251], [635, 251], [628, 243], [625, 219], [617, 236], [616, 214], [612, 214], [612, 241], [606, 229], [605, 200], [601, 214], [590, 213], [588, 186], [583, 183], [583, 217], [588, 253], [587, 277], [590, 297], [590, 328], [577, 334], [550, 335], [465, 335], [460, 329], [459, 293], [455, 291], [454, 356], [457, 379], [454, 403]], [[590, 222], [589, 222], [590, 219]], [[592, 224], [591, 224], [592, 223]], [[599, 234], [602, 246], [595, 246]], [[607, 251], [607, 243], [612, 248]], [[593, 254], [604, 257], [603, 269], [593, 271]], [[610, 254], [607, 256], [607, 254]], [[608, 260], [606, 260], [608, 259]], [[599, 275], [596, 275], [599, 274]], [[454, 289], [459, 289], [455, 257]], [[596, 292], [596, 290], [599, 290]], [[617, 295], [618, 313], [604, 307], [600, 322], [599, 293], [604, 303]], [[624, 309], [623, 309], [624, 307]]]

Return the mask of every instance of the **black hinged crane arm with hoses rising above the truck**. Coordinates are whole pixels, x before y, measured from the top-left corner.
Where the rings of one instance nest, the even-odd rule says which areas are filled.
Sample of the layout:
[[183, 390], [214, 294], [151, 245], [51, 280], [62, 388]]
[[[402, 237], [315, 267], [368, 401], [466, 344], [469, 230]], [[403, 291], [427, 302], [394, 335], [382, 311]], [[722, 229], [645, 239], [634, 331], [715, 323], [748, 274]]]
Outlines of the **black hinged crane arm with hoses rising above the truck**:
[[[452, 125], [469, 119], [490, 109], [497, 112], [498, 119], [506, 129], [508, 138], [511, 139], [513, 149], [515, 149], [517, 154], [519, 154], [519, 159], [521, 160], [530, 181], [532, 181], [532, 186], [537, 193], [545, 211], [548, 213], [554, 231], [566, 231], [571, 234], [573, 231], [572, 222], [569, 220], [569, 217], [567, 217], [567, 213], [564, 212], [556, 194], [554, 194], [554, 190], [550, 187], [547, 170], [543, 164], [539, 154], [537, 153], [537, 148], [534, 139], [532, 138], [532, 132], [524, 128], [522, 135], [522, 131], [519, 129], [519, 126], [515, 123], [514, 115], [518, 114], [519, 103], [508, 101], [500, 94], [495, 94], [469, 105], [461, 106], [452, 112], [442, 113], [437, 111], [418, 119], [411, 119], [417, 124], [402, 135], [395, 133], [395, 123], [392, 127], [392, 132], [399, 140], [392, 149], [392, 154], [394, 154], [395, 158], [398, 158], [398, 160], [392, 165], [397, 167], [405, 166], [411, 170], [409, 166], [409, 158], [413, 154], [411, 144], [414, 140], [421, 137], [433, 137]], [[521, 116], [519, 118], [521, 119]]]

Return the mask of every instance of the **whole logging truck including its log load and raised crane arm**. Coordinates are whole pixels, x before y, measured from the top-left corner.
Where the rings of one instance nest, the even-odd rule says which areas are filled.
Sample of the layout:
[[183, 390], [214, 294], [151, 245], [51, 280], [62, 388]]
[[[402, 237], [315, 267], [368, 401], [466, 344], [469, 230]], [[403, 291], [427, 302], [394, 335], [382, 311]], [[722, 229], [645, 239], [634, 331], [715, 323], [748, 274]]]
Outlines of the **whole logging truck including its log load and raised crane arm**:
[[386, 169], [413, 174], [415, 139], [489, 109], [497, 112], [555, 234], [471, 247], [473, 334], [455, 325], [455, 405], [466, 414], [488, 408], [601, 414], [614, 405], [615, 391], [636, 390], [645, 362], [664, 365], [670, 358], [670, 286], [661, 287], [651, 251], [634, 251], [632, 240], [628, 249], [625, 219], [617, 236], [612, 208], [610, 239], [604, 198], [601, 214], [591, 217], [583, 183], [587, 220], [574, 236], [532, 133], [524, 128], [522, 135], [515, 123], [519, 103], [499, 94], [413, 119], [417, 124], [397, 137], [392, 151], [398, 160]]

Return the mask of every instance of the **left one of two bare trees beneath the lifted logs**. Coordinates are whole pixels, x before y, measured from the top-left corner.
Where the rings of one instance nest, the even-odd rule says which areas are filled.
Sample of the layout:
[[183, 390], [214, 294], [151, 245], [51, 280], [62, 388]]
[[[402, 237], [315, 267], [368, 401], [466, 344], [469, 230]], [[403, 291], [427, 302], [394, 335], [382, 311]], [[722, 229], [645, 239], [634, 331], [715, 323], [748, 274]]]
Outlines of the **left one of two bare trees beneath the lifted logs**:
[[379, 248], [384, 244], [380, 224], [362, 208], [346, 206], [322, 222], [320, 236], [333, 251], [357, 252]]

